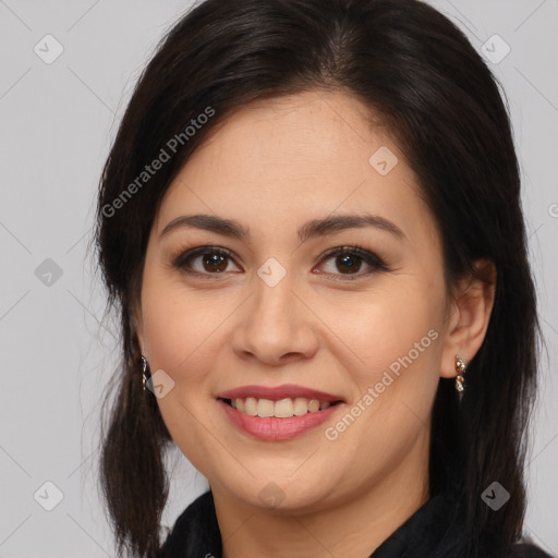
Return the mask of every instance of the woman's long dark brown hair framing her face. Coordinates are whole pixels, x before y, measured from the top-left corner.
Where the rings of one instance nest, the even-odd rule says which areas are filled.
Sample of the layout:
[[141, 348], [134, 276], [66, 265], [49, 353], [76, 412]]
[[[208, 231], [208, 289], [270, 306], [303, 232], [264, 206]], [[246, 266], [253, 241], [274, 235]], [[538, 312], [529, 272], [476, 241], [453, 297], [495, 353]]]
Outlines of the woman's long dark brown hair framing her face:
[[[310, 89], [344, 92], [381, 117], [438, 223], [448, 292], [477, 259], [496, 266], [488, 330], [461, 404], [452, 384], [439, 383], [429, 488], [454, 493], [463, 507], [468, 557], [481, 542], [504, 557], [522, 530], [537, 369], [518, 160], [497, 80], [463, 33], [417, 0], [207, 0], [170, 29], [141, 75], [102, 171], [95, 236], [108, 307], [121, 320], [100, 460], [119, 553], [156, 556], [169, 489], [172, 442], [142, 391], [131, 319], [157, 208], [217, 123], [252, 100]], [[208, 110], [205, 124], [184, 132]], [[142, 175], [161, 149], [170, 154], [171, 138], [170, 160]], [[512, 495], [498, 513], [481, 499], [493, 481]]]

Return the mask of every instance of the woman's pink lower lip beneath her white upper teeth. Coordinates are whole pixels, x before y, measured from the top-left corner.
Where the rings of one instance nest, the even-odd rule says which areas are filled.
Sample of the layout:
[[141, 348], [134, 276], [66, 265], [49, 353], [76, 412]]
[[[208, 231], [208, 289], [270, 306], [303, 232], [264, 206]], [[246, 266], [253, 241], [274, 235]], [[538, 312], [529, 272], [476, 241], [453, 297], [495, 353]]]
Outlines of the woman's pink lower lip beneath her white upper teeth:
[[217, 402], [235, 426], [263, 440], [295, 438], [325, 423], [342, 405], [342, 403], [337, 403], [323, 411], [306, 413], [301, 416], [290, 416], [289, 418], [278, 418], [277, 416], [251, 416], [233, 409], [222, 399], [218, 399]]

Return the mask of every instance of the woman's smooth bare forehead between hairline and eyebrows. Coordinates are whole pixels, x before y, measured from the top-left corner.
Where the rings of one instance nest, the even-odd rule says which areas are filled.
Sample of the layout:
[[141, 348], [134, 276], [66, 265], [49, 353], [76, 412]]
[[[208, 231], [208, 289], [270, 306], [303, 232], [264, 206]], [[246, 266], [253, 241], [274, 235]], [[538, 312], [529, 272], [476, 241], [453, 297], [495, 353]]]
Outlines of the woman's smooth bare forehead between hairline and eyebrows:
[[432, 228], [417, 187], [364, 105], [307, 92], [252, 102], [211, 130], [166, 193], [159, 229], [202, 210], [262, 227], [365, 210]]

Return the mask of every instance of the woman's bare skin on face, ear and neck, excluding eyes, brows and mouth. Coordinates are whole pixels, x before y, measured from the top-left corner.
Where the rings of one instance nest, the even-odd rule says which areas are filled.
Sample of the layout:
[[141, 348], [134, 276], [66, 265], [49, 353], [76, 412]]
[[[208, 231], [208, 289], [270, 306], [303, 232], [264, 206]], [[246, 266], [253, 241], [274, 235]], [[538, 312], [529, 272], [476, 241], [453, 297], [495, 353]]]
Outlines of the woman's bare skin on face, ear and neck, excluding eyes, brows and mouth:
[[[368, 162], [381, 146], [399, 158], [387, 175]], [[310, 220], [363, 213], [389, 219], [404, 238], [363, 227], [298, 239]], [[234, 219], [250, 239], [195, 228], [160, 235], [193, 214]], [[351, 264], [335, 256], [322, 262], [326, 251], [351, 244], [388, 269], [357, 260], [350, 275]], [[223, 271], [202, 257], [190, 262], [198, 275], [173, 266], [205, 245], [232, 252]], [[257, 275], [270, 257], [287, 274], [275, 287]], [[226, 558], [362, 558], [428, 499], [438, 380], [457, 375], [456, 354], [469, 362], [477, 352], [494, 300], [484, 283], [456, 287], [449, 298], [441, 239], [413, 171], [360, 101], [307, 92], [251, 104], [211, 131], [156, 216], [136, 330], [151, 373], [162, 369], [174, 381], [159, 409], [209, 481]], [[433, 329], [437, 339], [327, 439], [325, 429]], [[298, 384], [347, 403], [294, 439], [260, 440], [239, 430], [215, 399], [253, 384]], [[266, 486], [282, 498], [279, 506], [259, 497]]]

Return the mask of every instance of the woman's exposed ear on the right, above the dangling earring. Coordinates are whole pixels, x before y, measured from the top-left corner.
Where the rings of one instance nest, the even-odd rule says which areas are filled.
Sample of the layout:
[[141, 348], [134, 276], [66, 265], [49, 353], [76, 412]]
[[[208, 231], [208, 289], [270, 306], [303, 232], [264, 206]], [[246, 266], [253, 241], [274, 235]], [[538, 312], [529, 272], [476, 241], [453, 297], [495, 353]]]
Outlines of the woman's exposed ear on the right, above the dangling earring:
[[456, 355], [469, 364], [483, 344], [496, 292], [496, 266], [489, 259], [474, 264], [475, 277], [469, 276], [459, 283], [458, 293], [449, 308], [446, 339], [441, 356], [440, 376], [453, 378]]

